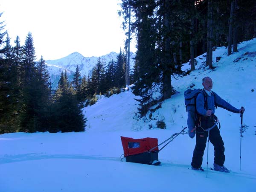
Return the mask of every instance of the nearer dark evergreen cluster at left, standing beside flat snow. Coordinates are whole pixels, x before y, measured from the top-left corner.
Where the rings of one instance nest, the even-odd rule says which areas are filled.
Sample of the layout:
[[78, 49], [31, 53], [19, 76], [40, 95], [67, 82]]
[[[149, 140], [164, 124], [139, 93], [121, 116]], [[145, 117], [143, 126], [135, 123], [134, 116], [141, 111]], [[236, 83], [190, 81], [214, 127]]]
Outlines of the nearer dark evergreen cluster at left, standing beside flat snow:
[[84, 131], [84, 118], [74, 90], [61, 79], [52, 94], [43, 57], [35, 61], [31, 32], [25, 44], [12, 47], [0, 23], [0, 134], [17, 131]]

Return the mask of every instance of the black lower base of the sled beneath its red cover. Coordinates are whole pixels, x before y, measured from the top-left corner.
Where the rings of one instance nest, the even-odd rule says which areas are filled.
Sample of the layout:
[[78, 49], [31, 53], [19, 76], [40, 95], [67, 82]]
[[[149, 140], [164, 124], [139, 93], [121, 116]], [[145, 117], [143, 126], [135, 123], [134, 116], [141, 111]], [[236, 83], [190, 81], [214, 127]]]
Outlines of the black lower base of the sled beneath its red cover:
[[145, 152], [126, 156], [126, 162], [142, 163], [147, 165], [159, 165], [158, 151]]

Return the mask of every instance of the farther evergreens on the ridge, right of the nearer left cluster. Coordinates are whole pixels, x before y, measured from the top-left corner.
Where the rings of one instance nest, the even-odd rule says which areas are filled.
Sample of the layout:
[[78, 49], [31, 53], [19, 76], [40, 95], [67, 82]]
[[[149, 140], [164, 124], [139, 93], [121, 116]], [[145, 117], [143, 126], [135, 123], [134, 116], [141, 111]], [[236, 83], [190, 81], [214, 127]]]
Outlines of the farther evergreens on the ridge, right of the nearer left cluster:
[[74, 84], [79, 100], [84, 101], [84, 105], [87, 106], [94, 104], [98, 95], [109, 97], [114, 93], [120, 93], [121, 88], [125, 87], [125, 65], [126, 57], [120, 50], [116, 60], [108, 61], [107, 64], [98, 58], [92, 73], [87, 77], [81, 78], [77, 66]]

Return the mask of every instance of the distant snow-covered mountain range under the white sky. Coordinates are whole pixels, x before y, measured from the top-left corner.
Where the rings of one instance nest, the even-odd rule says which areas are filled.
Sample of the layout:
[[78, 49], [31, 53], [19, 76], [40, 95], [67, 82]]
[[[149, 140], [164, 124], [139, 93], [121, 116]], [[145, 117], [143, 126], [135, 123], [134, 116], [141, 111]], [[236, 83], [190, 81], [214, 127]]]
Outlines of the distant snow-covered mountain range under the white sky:
[[[116, 61], [116, 57], [119, 53], [110, 52], [107, 55], [100, 56], [100, 59], [103, 63], [108, 64], [108, 61], [112, 59]], [[134, 57], [135, 54], [130, 52], [130, 69], [134, 67]], [[76, 71], [76, 66], [79, 67], [81, 76], [88, 76], [91, 74], [93, 67], [96, 65], [99, 57], [84, 57], [79, 52], [73, 52], [70, 55], [67, 55], [64, 58], [56, 60], [47, 60], [46, 65], [49, 71], [52, 88], [55, 89], [58, 85], [58, 80], [60, 79], [61, 72], [67, 70], [67, 76], [71, 80]]]

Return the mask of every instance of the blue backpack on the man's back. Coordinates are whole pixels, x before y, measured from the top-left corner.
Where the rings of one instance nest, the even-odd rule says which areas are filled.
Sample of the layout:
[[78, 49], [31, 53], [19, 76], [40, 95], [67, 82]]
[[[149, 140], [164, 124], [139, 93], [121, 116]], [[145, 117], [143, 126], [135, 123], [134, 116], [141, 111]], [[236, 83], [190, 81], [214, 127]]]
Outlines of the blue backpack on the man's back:
[[204, 103], [207, 105], [207, 96], [206, 93], [201, 89], [187, 89], [184, 92], [184, 98], [185, 98], [185, 105], [186, 105], [186, 111], [188, 113], [188, 119], [187, 119], [187, 125], [189, 129], [189, 137], [194, 138], [195, 137], [195, 128], [196, 128], [196, 122], [198, 120], [198, 115], [196, 111], [196, 97], [199, 93], [203, 93], [204, 95]]

